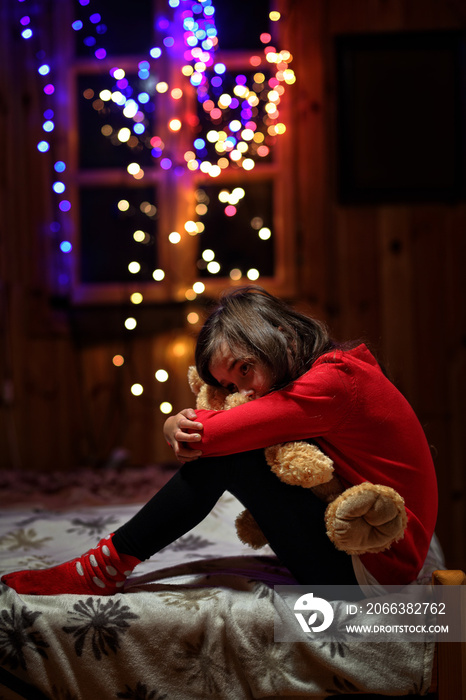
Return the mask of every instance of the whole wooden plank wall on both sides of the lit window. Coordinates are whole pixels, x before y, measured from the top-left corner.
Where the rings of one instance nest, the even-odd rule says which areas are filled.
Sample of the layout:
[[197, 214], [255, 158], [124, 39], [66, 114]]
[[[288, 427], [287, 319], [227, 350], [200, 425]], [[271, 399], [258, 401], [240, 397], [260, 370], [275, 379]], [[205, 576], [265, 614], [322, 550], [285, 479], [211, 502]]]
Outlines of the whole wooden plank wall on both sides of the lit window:
[[[84, 321], [48, 293], [44, 159], [35, 150], [38, 95], [11, 8], [0, 10], [0, 468], [71, 470], [102, 464], [112, 450], [131, 463], [170, 459], [160, 439], [161, 387], [138, 400], [154, 362], [171, 362], [175, 407], [192, 333], [179, 306], [154, 310], [152, 325], [125, 347], [86, 335]], [[12, 4], [11, 4], [12, 5]], [[466, 319], [463, 266], [466, 204], [341, 206], [336, 197], [336, 34], [464, 28], [452, 0], [290, 0], [289, 46], [298, 82], [293, 100], [296, 297], [338, 338], [377, 350], [418, 413], [435, 454], [439, 535], [449, 566], [466, 566]], [[108, 315], [109, 323], [111, 314]], [[100, 318], [105, 318], [105, 314]], [[99, 323], [99, 321], [97, 321]], [[184, 347], [174, 358], [173, 344]], [[171, 359], [169, 359], [171, 358]], [[180, 387], [175, 389], [176, 387]]]

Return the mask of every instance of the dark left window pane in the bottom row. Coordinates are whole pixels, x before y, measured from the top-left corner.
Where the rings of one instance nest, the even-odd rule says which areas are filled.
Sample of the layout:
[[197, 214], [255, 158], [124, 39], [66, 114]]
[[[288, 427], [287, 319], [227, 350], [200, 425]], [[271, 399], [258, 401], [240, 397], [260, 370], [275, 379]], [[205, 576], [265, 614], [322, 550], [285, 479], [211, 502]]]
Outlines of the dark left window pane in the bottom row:
[[[118, 203], [129, 207], [121, 211]], [[83, 187], [80, 190], [81, 282], [137, 282], [152, 279], [157, 267], [157, 209], [150, 187]], [[142, 231], [137, 242], [134, 232]], [[128, 265], [138, 262], [140, 272]]]

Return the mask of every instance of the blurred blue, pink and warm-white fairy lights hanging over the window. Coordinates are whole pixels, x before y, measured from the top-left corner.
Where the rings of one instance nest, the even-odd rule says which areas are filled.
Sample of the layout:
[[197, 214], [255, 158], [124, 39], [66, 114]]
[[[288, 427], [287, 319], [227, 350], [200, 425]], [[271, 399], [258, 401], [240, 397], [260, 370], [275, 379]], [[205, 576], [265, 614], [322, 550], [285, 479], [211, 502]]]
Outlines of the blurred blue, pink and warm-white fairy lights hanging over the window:
[[[74, 19], [71, 28], [82, 38], [91, 56], [96, 61], [103, 61], [107, 59], [104, 45], [107, 27], [95, 7], [98, 2], [76, 2], [80, 6], [80, 16], [84, 16], [82, 13], [85, 9], [88, 14], [87, 19]], [[39, 33], [34, 26], [34, 19], [38, 24], [40, 3], [33, 4], [29, 0], [18, 0], [18, 3], [24, 8], [19, 19], [21, 36], [24, 40], [31, 41]], [[271, 23], [279, 22], [280, 13], [271, 11], [269, 18]], [[125, 118], [124, 126], [115, 127], [111, 123], [105, 123], [101, 134], [115, 145], [125, 144], [135, 156], [141, 150], [149, 149], [151, 166], [163, 171], [171, 170], [175, 174], [202, 173], [215, 180], [227, 169], [247, 173], [257, 164], [267, 162], [277, 138], [286, 131], [286, 126], [280, 119], [280, 102], [286, 87], [296, 79], [290, 68], [293, 58], [291, 53], [277, 50], [272, 44], [272, 35], [264, 32], [260, 35], [262, 53], [252, 53], [248, 69], [229, 70], [226, 63], [217, 60], [220, 40], [215, 22], [214, 0], [168, 0], [167, 12], [155, 19], [155, 28], [159, 45], [153, 45], [147, 58], [138, 62], [138, 85], [143, 85], [142, 89], [135, 89], [131, 85], [131, 76], [122, 67], [113, 66], [109, 70], [113, 81], [111, 88], [102, 89], [98, 94], [91, 89], [84, 91], [83, 98], [89, 100], [97, 112], [108, 112], [106, 108], [112, 105], [112, 109], [116, 107]], [[171, 65], [179, 67], [179, 75], [174, 84], [170, 84], [168, 79], [157, 77], [160, 59], [163, 57], [169, 59]], [[55, 105], [59, 101], [54, 99], [56, 84], [52, 74], [57, 61], [52, 56], [47, 56], [42, 48], [36, 52], [36, 58], [44, 95], [43, 136], [37, 143], [37, 149], [41, 153], [52, 155], [52, 191], [56, 215], [50, 224], [50, 231], [56, 236], [61, 256], [66, 258], [73, 252], [70, 237], [66, 236], [66, 232], [71, 230], [70, 218], [67, 217], [71, 217], [72, 204], [67, 196], [67, 163], [64, 159], [55, 160], [53, 157], [54, 132], [59, 118], [58, 107]], [[182, 98], [193, 92], [199, 105], [198, 113], [186, 117]], [[160, 99], [162, 96], [171, 101], [167, 133], [176, 135], [183, 132], [189, 135], [184, 141], [177, 142], [176, 146], [173, 145], [175, 140], [164, 137], [163, 133], [152, 133], [154, 98]], [[189, 139], [191, 145], [180, 148], [179, 143], [189, 143]], [[128, 164], [127, 172], [136, 180], [143, 180], [146, 176], [144, 167], [135, 157]], [[245, 190], [242, 187], [234, 187], [231, 191], [227, 187], [221, 189], [218, 197], [224, 206], [225, 216], [236, 215], [244, 196]], [[184, 224], [185, 231], [191, 236], [202, 234], [202, 216], [206, 214], [209, 204], [202, 189], [197, 190], [196, 198], [198, 218]], [[126, 200], [118, 202], [121, 211], [127, 206]], [[151, 207], [150, 204], [147, 206]], [[258, 235], [263, 240], [272, 235], [270, 228], [261, 223], [254, 228], [258, 229]], [[133, 237], [135, 241], [143, 242], [145, 234], [137, 230]], [[177, 245], [181, 241], [180, 232], [171, 231], [168, 240]], [[215, 252], [211, 249], [202, 251], [201, 262], [212, 275], [220, 271]], [[58, 283], [66, 288], [70, 284], [69, 265], [63, 262], [59, 267]], [[137, 275], [140, 270], [138, 261], [129, 261], [128, 270]], [[235, 269], [230, 276], [236, 280], [242, 274]], [[259, 275], [256, 269], [247, 272], [250, 280], [258, 279]], [[160, 282], [164, 279], [165, 272], [156, 269], [152, 277], [155, 283]], [[186, 291], [186, 298], [192, 301], [204, 290], [204, 283], [197, 281]], [[142, 303], [142, 292], [132, 292], [130, 301], [135, 305]], [[195, 324], [199, 317], [191, 312], [187, 320]], [[137, 320], [130, 316], [124, 324], [127, 330], [133, 330], [137, 326]], [[123, 356], [116, 355], [113, 363], [121, 366], [124, 363]], [[159, 382], [165, 382], [168, 373], [164, 369], [157, 370], [155, 378]], [[138, 395], [143, 392], [143, 387], [134, 384], [131, 391]], [[160, 410], [170, 413], [172, 406], [169, 402], [164, 402]]]

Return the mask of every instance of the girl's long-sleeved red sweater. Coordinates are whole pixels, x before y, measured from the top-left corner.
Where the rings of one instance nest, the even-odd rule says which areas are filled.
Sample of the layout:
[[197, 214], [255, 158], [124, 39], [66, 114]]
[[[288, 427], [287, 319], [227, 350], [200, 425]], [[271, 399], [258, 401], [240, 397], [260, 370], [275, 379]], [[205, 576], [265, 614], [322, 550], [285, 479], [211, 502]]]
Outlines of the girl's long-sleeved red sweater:
[[370, 481], [405, 500], [404, 539], [361, 561], [381, 584], [414, 581], [437, 518], [437, 482], [424, 431], [365, 345], [321, 356], [302, 377], [229, 411], [197, 411], [205, 457], [314, 438], [349, 485]]

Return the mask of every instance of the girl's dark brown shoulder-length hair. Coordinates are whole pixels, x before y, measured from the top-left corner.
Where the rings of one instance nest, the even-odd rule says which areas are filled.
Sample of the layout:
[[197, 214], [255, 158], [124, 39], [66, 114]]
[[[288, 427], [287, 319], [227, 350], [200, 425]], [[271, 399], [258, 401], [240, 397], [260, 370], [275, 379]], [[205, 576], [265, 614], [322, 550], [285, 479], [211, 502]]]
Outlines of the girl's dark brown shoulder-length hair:
[[262, 362], [271, 372], [272, 389], [285, 387], [336, 347], [322, 323], [256, 286], [224, 292], [199, 333], [197, 371], [213, 386], [218, 382], [209, 366], [222, 343], [237, 357]]

